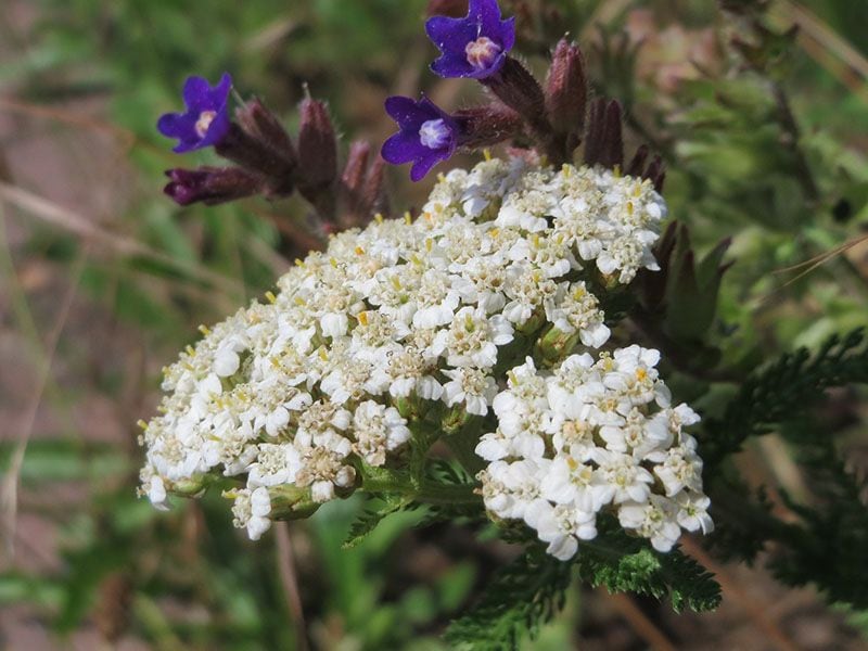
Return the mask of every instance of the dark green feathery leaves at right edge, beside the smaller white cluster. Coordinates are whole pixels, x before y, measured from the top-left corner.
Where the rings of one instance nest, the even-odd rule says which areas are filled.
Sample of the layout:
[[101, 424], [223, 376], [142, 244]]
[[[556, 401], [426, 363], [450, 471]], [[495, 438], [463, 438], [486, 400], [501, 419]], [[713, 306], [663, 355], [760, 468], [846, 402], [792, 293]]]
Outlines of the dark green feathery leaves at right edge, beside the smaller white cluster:
[[[868, 482], [847, 469], [834, 431], [818, 421], [815, 409], [828, 388], [866, 383], [868, 340], [861, 330], [832, 336], [813, 354], [806, 348], [786, 354], [742, 384], [724, 417], [707, 423], [703, 446], [718, 551], [753, 561], [774, 540], [769, 565], [783, 583], [814, 584], [829, 601], [857, 609], [868, 608], [868, 567], [861, 558], [868, 547]], [[749, 437], [773, 431], [783, 434], [805, 472], [807, 496], [800, 501], [783, 493], [797, 522], [775, 518], [763, 493], [751, 500], [732, 469], [717, 468]]]

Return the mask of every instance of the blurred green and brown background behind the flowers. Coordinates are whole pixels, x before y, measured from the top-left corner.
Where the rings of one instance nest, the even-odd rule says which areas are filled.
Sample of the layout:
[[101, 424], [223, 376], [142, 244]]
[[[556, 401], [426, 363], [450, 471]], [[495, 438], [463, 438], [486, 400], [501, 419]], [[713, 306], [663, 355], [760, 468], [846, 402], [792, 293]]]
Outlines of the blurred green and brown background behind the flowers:
[[[135, 423], [155, 407], [161, 367], [197, 324], [272, 285], [292, 257], [276, 253], [275, 225], [306, 215], [296, 200], [174, 205], [163, 170], [213, 154], [171, 154], [157, 116], [180, 107], [188, 75], [229, 71], [241, 95], [263, 98], [291, 130], [306, 85], [329, 102], [345, 144], [379, 146], [390, 94], [425, 91], [447, 108], [481, 98], [427, 72], [426, 4], [2, 0], [7, 648], [293, 649], [306, 637], [321, 649], [439, 649], [444, 625], [514, 556], [401, 515], [342, 550], [355, 500], [251, 544], [219, 496], [158, 513], [135, 495]], [[801, 29], [770, 38], [752, 69], [732, 44], [742, 25], [711, 0], [502, 5], [520, 16], [521, 51], [540, 74], [557, 38], [579, 39], [595, 90], [626, 108], [628, 149], [649, 142], [664, 155], [671, 214], [695, 248], [733, 239], [715, 331], [729, 363], [751, 368], [868, 323], [868, 4], [770, 3], [770, 28]], [[391, 169], [388, 182], [403, 213], [433, 181], [411, 186], [406, 169]], [[868, 458], [864, 411], [843, 438], [856, 464]], [[802, 478], [774, 436], [741, 463], [753, 483], [799, 495]], [[758, 571], [712, 567], [726, 600], [716, 614], [678, 618], [577, 586], [527, 648], [868, 643], [864, 614]]]

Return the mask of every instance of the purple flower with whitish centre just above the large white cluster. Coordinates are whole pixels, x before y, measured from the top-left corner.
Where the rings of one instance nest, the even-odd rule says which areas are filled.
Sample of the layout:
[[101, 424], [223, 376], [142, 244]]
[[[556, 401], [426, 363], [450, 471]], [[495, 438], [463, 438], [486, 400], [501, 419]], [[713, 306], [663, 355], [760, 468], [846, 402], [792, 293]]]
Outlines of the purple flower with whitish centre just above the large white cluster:
[[383, 158], [393, 165], [412, 161], [410, 178], [419, 181], [432, 167], [455, 153], [461, 128], [448, 113], [441, 111], [423, 97], [392, 97], [386, 100], [386, 113], [400, 131], [383, 143]]

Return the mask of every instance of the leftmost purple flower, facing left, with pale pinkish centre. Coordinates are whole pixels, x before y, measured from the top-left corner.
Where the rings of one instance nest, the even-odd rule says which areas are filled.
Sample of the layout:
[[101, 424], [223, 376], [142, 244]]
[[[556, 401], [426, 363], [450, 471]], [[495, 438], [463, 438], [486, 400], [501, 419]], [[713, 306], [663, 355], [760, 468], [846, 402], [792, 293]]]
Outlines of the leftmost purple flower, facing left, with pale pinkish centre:
[[177, 138], [177, 153], [190, 152], [218, 143], [229, 131], [229, 90], [232, 77], [224, 73], [214, 88], [203, 77], [188, 77], [183, 85], [187, 113], [166, 113], [156, 128], [163, 136]]

